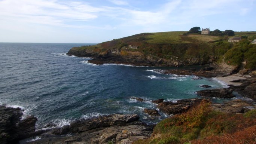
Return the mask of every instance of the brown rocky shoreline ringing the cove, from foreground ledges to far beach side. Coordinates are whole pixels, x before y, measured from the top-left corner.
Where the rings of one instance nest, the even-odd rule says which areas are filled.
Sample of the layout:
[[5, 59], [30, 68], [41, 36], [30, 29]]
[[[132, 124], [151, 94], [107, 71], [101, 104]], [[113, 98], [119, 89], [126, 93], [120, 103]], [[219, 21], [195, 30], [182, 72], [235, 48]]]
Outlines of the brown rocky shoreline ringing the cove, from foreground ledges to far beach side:
[[[199, 71], [191, 70], [159, 70], [164, 74], [195, 75], [196, 79], [202, 77], [223, 77], [234, 73], [236, 68], [225, 65], [210, 65]], [[251, 72], [252, 73], [252, 72]], [[247, 71], [250, 74], [250, 71]], [[195, 79], [195, 80], [196, 80]], [[225, 113], [245, 113], [256, 109], [256, 75], [246, 79], [238, 79], [241, 85], [230, 85], [223, 89], [204, 89], [197, 91], [196, 94], [202, 98], [181, 99], [177, 102], [164, 101], [156, 99], [152, 101], [156, 107], [165, 114], [172, 116], [180, 114], [191, 107], [199, 104], [202, 99], [211, 98], [233, 98], [233, 92], [237, 92], [251, 101], [234, 99], [223, 104], [211, 104], [211, 108]], [[202, 87], [208, 88], [207, 85]], [[143, 101], [141, 98], [135, 98], [137, 101]], [[159, 117], [158, 110], [144, 109], [144, 113], [150, 117]], [[61, 128], [50, 128], [37, 130], [35, 128], [37, 118], [28, 116], [21, 119], [22, 110], [20, 108], [10, 108], [6, 105], [0, 105], [0, 144], [131, 144], [139, 139], [145, 139], [151, 136], [153, 126], [141, 122], [137, 114], [111, 114], [108, 116], [99, 116], [91, 119], [79, 119], [70, 122]], [[48, 124], [48, 126], [52, 126]], [[28, 138], [35, 138], [30, 141]]]

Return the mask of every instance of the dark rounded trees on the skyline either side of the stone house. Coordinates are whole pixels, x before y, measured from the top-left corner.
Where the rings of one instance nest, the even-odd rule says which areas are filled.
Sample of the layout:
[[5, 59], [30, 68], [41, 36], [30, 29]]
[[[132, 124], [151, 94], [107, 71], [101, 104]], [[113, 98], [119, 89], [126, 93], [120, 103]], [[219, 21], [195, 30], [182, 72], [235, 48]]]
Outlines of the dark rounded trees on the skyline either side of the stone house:
[[[201, 34], [201, 28], [200, 27], [192, 27], [188, 33], [196, 33]], [[210, 31], [211, 36], [235, 36], [234, 31], [232, 30], [225, 30], [223, 33], [222, 31], [216, 29], [214, 31]]]

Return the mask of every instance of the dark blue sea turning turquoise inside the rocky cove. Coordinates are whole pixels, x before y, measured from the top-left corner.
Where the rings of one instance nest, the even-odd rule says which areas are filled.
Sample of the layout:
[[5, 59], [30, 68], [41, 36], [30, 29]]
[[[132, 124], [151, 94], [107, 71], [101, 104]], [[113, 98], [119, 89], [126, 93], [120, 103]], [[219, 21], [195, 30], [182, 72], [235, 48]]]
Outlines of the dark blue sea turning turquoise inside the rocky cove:
[[153, 124], [167, 115], [144, 114], [144, 108], [157, 109], [151, 100], [175, 102], [198, 97], [195, 91], [205, 89], [200, 85], [225, 86], [211, 78], [193, 80], [194, 76], [156, 72], [170, 69], [166, 67], [94, 65], [87, 62], [90, 58], [66, 55], [70, 48], [82, 45], [92, 44], [0, 43], [0, 104], [36, 116], [38, 129], [49, 122], [63, 126], [74, 119], [112, 113], [136, 113]]

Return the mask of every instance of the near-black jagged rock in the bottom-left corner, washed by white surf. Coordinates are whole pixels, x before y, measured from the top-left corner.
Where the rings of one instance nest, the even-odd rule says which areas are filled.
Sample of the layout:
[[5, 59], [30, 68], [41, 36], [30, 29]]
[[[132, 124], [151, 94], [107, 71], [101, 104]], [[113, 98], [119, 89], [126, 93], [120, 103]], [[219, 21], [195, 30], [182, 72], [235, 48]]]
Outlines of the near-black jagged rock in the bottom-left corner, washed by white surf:
[[36, 117], [28, 116], [21, 120], [20, 108], [0, 105], [0, 143], [15, 144], [19, 140], [31, 137], [35, 134]]

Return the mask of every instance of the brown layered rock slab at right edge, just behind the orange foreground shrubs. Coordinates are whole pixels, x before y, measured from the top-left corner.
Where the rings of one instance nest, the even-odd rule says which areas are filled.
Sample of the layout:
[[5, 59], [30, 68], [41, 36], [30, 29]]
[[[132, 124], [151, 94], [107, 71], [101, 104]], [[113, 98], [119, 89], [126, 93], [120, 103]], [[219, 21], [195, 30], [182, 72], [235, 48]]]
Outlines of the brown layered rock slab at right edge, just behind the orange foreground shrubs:
[[256, 108], [256, 103], [252, 101], [243, 101], [235, 99], [232, 101], [224, 102], [223, 104], [211, 104], [213, 110], [221, 111], [224, 113], [245, 113]]

